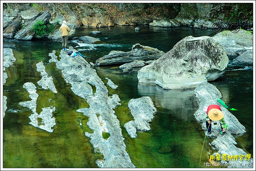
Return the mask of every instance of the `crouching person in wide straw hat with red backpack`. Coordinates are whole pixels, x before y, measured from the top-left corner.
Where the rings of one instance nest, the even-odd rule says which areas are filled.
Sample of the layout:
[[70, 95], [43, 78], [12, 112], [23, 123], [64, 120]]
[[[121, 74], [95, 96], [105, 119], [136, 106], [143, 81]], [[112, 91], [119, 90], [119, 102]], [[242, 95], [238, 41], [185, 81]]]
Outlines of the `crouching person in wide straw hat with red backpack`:
[[[219, 120], [219, 122], [220, 122], [220, 127], [222, 129], [222, 132], [225, 132], [225, 130], [226, 130], [225, 127], [227, 125], [226, 125], [226, 122], [225, 122], [223, 116], [224, 116], [224, 114], [221, 111], [219, 105], [212, 104], [212, 105], [208, 106], [207, 116], [206, 116], [206, 129], [208, 128], [207, 134], [210, 134], [212, 131], [212, 121], [217, 121], [217, 120]], [[213, 124], [216, 125], [217, 122], [214, 122]]]

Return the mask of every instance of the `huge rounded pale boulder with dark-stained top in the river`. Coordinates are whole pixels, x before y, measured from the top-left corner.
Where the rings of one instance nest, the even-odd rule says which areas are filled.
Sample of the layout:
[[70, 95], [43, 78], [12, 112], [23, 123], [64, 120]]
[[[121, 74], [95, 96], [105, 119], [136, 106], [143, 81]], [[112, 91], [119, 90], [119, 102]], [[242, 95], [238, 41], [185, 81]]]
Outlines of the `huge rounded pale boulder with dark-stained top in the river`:
[[154, 83], [163, 89], [195, 88], [221, 76], [229, 58], [209, 36], [187, 36], [172, 50], [138, 71], [139, 82]]

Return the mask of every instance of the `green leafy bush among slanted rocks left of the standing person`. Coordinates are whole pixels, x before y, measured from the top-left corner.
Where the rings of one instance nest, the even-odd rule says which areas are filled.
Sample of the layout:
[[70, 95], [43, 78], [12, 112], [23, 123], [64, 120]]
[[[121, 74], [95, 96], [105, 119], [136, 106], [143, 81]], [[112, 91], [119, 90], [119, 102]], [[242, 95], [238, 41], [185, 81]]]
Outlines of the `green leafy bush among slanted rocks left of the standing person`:
[[51, 23], [48, 23], [47, 25], [44, 24], [44, 21], [38, 21], [32, 25], [31, 30], [33, 30], [36, 33], [36, 36], [44, 36], [46, 33], [51, 33], [54, 31], [54, 26]]

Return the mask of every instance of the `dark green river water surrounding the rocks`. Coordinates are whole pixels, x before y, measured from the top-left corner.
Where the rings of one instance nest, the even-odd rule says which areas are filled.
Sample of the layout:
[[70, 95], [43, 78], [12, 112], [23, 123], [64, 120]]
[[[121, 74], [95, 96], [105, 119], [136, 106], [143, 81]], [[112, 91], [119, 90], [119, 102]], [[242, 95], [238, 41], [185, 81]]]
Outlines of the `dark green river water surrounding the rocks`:
[[[135, 26], [114, 26], [106, 28], [81, 27], [73, 37], [92, 36], [100, 39], [98, 44], [77, 44], [69, 41], [68, 45], [78, 49], [86, 56], [87, 62], [95, 63], [96, 59], [107, 55], [112, 50], [130, 51], [139, 43], [167, 52], [186, 36], [213, 36], [215, 33], [195, 28], [161, 28], [140, 25], [136, 32]], [[101, 34], [90, 35], [91, 31]], [[66, 83], [55, 63], [49, 63], [49, 53], [56, 51], [59, 56], [62, 42], [49, 39], [18, 41], [3, 40], [4, 46], [13, 46], [16, 61], [6, 68], [8, 78], [3, 86], [3, 95], [7, 97], [5, 118], [1, 121], [3, 167], [4, 168], [97, 168], [95, 161], [103, 159], [95, 153], [90, 138], [84, 132], [93, 131], [86, 125], [87, 116], [76, 112], [80, 108], [88, 108], [85, 99], [73, 94], [70, 84]], [[36, 64], [43, 62], [46, 72], [53, 77], [58, 93], [44, 90], [37, 84], [42, 77], [37, 72]], [[108, 87], [109, 96], [117, 94], [120, 106], [114, 109], [120, 121], [124, 143], [132, 163], [137, 168], [198, 168], [208, 162], [208, 143], [213, 138], [206, 138], [204, 130], [193, 114], [198, 110], [198, 100], [193, 90], [163, 90], [152, 84], [138, 84], [137, 71], [124, 74], [119, 66], [94, 67], [102, 81], [106, 77], [118, 85], [116, 90]], [[238, 109], [231, 113], [246, 127], [244, 135], [235, 136], [236, 146], [251, 154], [253, 158], [253, 67], [230, 62], [227, 71], [217, 80], [210, 83], [222, 93], [222, 100], [227, 106]], [[37, 113], [42, 108], [54, 106], [53, 117], [56, 118], [54, 131], [49, 133], [29, 124], [31, 110], [18, 105], [30, 101], [23, 84], [32, 82], [37, 87]], [[137, 132], [137, 138], [130, 138], [123, 125], [133, 120], [129, 112], [128, 102], [132, 98], [149, 96], [157, 113], [150, 125], [151, 130]], [[81, 120], [83, 127], [80, 127]], [[203, 144], [204, 142], [204, 144]], [[201, 155], [201, 150], [202, 156]], [[213, 154], [216, 151], [212, 151]]]

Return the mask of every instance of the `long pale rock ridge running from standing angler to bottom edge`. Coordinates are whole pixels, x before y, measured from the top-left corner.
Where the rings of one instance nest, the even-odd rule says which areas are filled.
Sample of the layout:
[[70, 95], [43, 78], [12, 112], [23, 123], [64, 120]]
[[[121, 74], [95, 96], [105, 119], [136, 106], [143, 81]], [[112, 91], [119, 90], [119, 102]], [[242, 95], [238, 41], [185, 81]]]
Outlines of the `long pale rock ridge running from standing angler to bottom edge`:
[[[70, 50], [76, 51], [73, 47]], [[71, 91], [81, 98], [86, 99], [89, 108], [78, 109], [77, 112], [89, 117], [87, 125], [93, 133], [85, 132], [85, 136], [91, 138], [90, 142], [95, 152], [104, 156], [98, 159], [98, 167], [126, 168], [135, 167], [126, 152], [126, 145], [122, 136], [122, 130], [113, 108], [116, 108], [120, 99], [118, 95], [108, 96], [107, 87], [98, 77], [95, 69], [80, 55], [72, 58], [64, 51], [60, 51], [60, 61], [56, 67], [62, 70], [62, 74], [71, 85]], [[96, 88], [93, 92], [92, 86]], [[107, 132], [110, 137], [104, 139], [102, 132]]]

